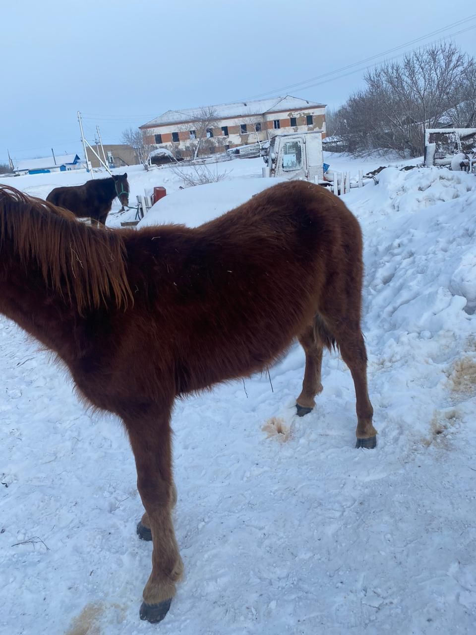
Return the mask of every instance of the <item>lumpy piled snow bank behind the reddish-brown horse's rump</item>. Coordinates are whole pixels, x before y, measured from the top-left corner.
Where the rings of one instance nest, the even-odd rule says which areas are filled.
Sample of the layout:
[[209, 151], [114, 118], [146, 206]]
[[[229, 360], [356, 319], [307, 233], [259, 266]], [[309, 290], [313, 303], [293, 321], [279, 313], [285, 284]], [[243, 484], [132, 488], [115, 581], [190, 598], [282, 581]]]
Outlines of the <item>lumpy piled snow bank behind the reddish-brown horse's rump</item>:
[[441, 401], [449, 369], [473, 347], [476, 179], [437, 168], [378, 177], [346, 198], [364, 230], [364, 324], [369, 350], [380, 351], [371, 366], [392, 369], [383, 401], [417, 439], [427, 434], [428, 396]]

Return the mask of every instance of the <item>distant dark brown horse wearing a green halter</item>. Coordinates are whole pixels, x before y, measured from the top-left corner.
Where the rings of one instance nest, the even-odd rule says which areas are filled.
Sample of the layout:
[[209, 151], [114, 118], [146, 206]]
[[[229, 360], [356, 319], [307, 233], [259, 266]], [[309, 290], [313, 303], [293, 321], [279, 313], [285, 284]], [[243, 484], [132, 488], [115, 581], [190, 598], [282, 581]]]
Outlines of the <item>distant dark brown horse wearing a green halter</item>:
[[112, 201], [116, 197], [121, 201], [122, 207], [129, 204], [127, 173], [87, 181], [84, 185], [55, 187], [46, 200], [72, 211], [79, 218], [91, 218], [93, 225], [105, 225]]

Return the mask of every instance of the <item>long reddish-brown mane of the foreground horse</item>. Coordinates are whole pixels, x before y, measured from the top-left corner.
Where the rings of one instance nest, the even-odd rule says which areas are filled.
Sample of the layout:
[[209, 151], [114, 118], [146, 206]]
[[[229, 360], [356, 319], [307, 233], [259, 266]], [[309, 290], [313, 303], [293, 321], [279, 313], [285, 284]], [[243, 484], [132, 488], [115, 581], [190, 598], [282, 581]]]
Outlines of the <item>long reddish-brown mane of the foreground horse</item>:
[[11, 244], [25, 269], [36, 264], [45, 283], [82, 313], [109, 304], [133, 302], [126, 276], [124, 240], [90, 227], [70, 211], [0, 186], [0, 258]]

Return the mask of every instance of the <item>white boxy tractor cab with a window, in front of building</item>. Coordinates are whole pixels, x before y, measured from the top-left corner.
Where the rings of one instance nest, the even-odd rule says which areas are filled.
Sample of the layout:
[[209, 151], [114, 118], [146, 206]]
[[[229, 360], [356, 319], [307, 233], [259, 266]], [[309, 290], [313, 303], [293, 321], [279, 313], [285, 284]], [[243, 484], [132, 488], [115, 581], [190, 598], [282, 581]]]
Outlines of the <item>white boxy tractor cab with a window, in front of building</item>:
[[267, 156], [263, 156], [263, 160], [267, 164], [267, 168], [263, 168], [263, 176], [289, 180], [301, 178], [327, 184], [324, 181], [321, 132], [275, 135], [270, 140]]

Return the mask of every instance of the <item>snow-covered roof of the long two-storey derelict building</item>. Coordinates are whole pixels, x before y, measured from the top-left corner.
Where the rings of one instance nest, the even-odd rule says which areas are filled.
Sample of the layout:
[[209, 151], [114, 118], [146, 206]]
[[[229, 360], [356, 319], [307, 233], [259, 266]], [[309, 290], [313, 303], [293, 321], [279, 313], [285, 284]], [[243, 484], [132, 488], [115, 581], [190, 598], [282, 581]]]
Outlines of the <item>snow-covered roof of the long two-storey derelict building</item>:
[[[271, 97], [268, 99], [258, 99], [249, 102], [234, 102], [233, 104], [218, 104], [213, 106], [206, 106], [205, 108], [213, 109], [216, 112], [217, 119], [229, 119], [230, 117], [246, 117], [256, 114], [265, 114], [266, 112], [282, 112], [292, 111], [300, 109], [323, 108], [324, 104], [316, 104], [315, 102], [309, 102], [307, 99], [301, 99], [300, 97]], [[199, 106], [197, 108], [187, 108], [185, 110], [167, 110], [159, 117], [155, 117], [152, 121], [140, 126], [140, 128], [153, 128], [154, 126], [164, 126], [171, 123], [184, 123], [185, 121], [197, 121], [199, 116], [197, 114], [204, 108]]]

